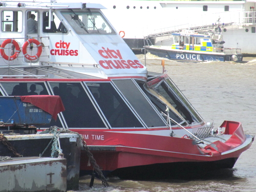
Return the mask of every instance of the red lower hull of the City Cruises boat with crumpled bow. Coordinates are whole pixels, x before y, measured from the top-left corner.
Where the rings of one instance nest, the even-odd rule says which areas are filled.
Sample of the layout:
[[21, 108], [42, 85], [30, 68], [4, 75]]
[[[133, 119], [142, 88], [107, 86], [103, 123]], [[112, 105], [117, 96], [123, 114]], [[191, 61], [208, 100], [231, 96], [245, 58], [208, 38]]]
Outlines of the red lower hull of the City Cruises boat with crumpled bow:
[[[127, 130], [76, 130], [85, 138], [102, 170], [112, 172], [123, 167], [136, 167], [177, 162], [212, 162], [230, 159], [221, 168], [232, 168], [236, 159], [247, 150], [253, 138], [246, 137], [238, 122], [224, 121], [225, 133], [231, 135], [226, 142], [217, 141], [200, 147], [192, 139], [170, 136], [125, 133]], [[130, 131], [130, 130], [129, 130]], [[158, 130], [159, 132], [163, 130]], [[140, 132], [141, 133], [141, 132]], [[85, 153], [81, 155], [81, 170], [92, 170]]]

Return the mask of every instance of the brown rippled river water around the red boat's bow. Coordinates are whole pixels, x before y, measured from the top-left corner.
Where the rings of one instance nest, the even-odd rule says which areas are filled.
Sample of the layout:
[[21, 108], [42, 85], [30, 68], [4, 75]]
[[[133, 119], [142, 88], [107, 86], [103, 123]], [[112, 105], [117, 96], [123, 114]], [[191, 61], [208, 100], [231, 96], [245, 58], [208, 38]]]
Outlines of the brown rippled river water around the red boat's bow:
[[[137, 55], [144, 63], [144, 55]], [[160, 58], [147, 55], [148, 71], [162, 72]], [[245, 134], [256, 135], [256, 58], [244, 62], [177, 62], [165, 60], [165, 70], [203, 119], [242, 122]], [[255, 141], [254, 141], [255, 142]], [[242, 153], [233, 169], [218, 170], [194, 180], [133, 181], [108, 178], [110, 187], [90, 177], [80, 178], [79, 191], [256, 191], [256, 143]]]

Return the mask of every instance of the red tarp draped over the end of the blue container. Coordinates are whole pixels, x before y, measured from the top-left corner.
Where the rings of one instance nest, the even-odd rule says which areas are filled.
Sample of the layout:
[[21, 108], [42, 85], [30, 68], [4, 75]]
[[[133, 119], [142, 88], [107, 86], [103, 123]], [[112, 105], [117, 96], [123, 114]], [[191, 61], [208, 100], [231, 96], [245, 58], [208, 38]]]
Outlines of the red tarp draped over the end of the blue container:
[[29, 102], [38, 108], [46, 111], [52, 115], [52, 118], [56, 121], [57, 114], [65, 111], [64, 105], [59, 96], [53, 95], [27, 95], [20, 96], [23, 102]]

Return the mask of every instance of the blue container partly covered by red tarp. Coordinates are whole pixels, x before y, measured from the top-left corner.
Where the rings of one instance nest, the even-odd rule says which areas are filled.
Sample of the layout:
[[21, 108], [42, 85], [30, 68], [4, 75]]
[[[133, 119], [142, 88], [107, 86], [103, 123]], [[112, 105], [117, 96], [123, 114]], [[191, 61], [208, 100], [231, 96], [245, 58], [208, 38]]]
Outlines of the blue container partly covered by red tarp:
[[0, 97], [0, 120], [8, 124], [39, 125], [50, 123], [52, 115], [20, 97]]

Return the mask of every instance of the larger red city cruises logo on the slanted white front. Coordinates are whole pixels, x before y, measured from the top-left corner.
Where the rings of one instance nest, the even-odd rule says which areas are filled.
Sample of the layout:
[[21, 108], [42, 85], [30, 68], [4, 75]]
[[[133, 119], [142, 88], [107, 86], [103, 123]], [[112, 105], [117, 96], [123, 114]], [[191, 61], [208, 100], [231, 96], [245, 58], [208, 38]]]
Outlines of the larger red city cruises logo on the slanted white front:
[[99, 65], [104, 69], [144, 68], [139, 60], [124, 60], [119, 50], [102, 47], [102, 49], [98, 50], [98, 53], [105, 58], [105, 60], [99, 61]]

